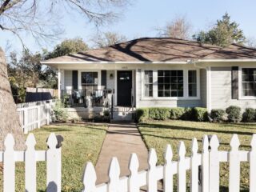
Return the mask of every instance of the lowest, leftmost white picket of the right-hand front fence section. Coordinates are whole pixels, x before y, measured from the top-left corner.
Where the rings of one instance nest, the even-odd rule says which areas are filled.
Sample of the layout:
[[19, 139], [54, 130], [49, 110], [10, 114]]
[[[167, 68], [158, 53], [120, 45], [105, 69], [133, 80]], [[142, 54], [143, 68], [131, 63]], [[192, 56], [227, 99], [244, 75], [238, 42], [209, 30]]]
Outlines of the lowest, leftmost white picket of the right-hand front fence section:
[[86, 163], [86, 168], [82, 176], [82, 182], [84, 185], [84, 191], [94, 191], [96, 188], [96, 172], [94, 170], [94, 165], [91, 162]]

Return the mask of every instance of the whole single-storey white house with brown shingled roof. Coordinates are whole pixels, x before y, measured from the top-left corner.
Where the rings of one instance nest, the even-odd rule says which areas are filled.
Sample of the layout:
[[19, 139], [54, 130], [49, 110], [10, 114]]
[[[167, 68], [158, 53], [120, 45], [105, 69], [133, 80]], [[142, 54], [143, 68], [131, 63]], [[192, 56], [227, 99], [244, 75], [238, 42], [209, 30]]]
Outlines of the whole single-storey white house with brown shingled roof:
[[256, 50], [245, 46], [139, 38], [42, 63], [71, 106], [256, 108]]

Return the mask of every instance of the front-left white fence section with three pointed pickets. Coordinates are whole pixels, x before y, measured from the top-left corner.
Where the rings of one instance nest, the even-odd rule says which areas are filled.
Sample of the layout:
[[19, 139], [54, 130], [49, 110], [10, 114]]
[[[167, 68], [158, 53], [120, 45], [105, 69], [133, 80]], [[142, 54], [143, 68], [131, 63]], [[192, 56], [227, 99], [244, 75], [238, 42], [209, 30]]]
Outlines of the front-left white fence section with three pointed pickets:
[[5, 151], [0, 151], [0, 162], [3, 162], [3, 192], [15, 191], [15, 162], [25, 162], [25, 187], [26, 192], [37, 191], [37, 162], [46, 161], [46, 191], [61, 191], [61, 148], [57, 148], [55, 134], [50, 134], [47, 139], [48, 150], [35, 150], [36, 141], [34, 134], [29, 134], [26, 139], [26, 150], [14, 150], [14, 138], [7, 134], [4, 142]]

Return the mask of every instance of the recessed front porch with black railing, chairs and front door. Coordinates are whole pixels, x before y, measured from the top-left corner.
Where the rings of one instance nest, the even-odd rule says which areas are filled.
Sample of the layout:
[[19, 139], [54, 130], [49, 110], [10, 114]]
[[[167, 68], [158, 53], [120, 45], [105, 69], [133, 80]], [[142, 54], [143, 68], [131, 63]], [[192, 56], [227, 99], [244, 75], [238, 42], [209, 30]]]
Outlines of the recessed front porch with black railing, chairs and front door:
[[109, 111], [131, 120], [135, 109], [135, 70], [59, 70], [59, 98], [70, 116], [92, 119]]

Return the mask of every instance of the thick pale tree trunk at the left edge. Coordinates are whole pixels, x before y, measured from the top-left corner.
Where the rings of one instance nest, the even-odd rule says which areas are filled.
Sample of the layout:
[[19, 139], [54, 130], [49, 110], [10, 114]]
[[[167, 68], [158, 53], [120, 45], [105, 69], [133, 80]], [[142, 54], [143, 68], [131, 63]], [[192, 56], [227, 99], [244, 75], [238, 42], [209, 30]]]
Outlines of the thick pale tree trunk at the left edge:
[[24, 135], [19, 122], [14, 98], [10, 90], [6, 57], [0, 47], [0, 150], [4, 149], [3, 143], [6, 134], [9, 133], [14, 136], [15, 149], [24, 149]]

